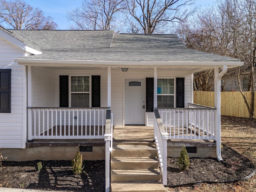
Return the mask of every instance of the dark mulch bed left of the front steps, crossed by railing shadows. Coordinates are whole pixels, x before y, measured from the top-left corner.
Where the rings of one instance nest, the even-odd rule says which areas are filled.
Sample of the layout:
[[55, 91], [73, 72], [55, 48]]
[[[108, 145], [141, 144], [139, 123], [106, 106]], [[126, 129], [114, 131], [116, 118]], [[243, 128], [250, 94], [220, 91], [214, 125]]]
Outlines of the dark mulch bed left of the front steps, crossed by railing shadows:
[[81, 175], [72, 173], [71, 161], [4, 161], [0, 167], [0, 187], [74, 192], [105, 191], [105, 161], [84, 161]]

